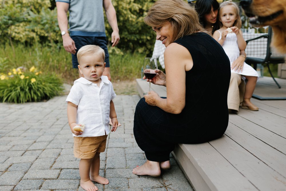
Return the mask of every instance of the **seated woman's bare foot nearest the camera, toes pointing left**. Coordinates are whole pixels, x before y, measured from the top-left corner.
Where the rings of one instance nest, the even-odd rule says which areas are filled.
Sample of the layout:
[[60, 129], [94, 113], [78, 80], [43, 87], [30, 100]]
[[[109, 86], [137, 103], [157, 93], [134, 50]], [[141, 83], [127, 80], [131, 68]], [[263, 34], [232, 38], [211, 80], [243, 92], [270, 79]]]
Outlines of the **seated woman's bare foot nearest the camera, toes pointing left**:
[[132, 172], [137, 175], [149, 175], [154, 177], [161, 175], [159, 162], [149, 160], [147, 160], [142, 166], [134, 168]]

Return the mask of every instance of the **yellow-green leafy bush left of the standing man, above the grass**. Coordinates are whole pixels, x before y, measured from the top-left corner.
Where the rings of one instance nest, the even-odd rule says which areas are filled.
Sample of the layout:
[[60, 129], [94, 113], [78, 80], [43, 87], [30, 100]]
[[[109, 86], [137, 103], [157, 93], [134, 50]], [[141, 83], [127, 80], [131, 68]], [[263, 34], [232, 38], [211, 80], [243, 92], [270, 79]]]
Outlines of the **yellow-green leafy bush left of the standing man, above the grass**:
[[49, 0], [0, 0], [0, 40], [33, 44], [60, 40], [56, 10]]

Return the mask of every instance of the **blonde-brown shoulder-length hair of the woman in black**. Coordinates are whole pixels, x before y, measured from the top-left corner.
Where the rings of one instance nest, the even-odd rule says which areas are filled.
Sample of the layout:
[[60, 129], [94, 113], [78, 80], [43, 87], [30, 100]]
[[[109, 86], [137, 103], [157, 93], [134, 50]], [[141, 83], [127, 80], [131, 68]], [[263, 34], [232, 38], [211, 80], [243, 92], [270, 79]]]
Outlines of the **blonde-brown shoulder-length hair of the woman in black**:
[[197, 31], [208, 33], [200, 24], [196, 10], [183, 0], [156, 1], [148, 10], [144, 22], [152, 27], [170, 22], [173, 34], [171, 42]]

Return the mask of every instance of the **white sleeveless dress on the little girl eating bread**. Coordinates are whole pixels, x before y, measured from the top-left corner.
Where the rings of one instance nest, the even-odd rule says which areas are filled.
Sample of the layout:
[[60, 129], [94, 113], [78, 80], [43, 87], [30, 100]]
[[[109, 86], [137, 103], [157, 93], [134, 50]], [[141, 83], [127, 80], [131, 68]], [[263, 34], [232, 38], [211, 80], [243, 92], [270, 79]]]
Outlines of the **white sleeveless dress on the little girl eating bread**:
[[[219, 31], [219, 33], [221, 34], [221, 31]], [[219, 37], [219, 40], [221, 40], [221, 35]], [[227, 34], [225, 38], [225, 42], [223, 43], [223, 49], [225, 50], [225, 53], [229, 57], [229, 61], [231, 64], [233, 63], [233, 61], [235, 61], [239, 57], [240, 50], [237, 44], [237, 37], [235, 33], [232, 32], [232, 33]], [[235, 70], [231, 70], [231, 72], [245, 75], [245, 76], [259, 77], [257, 71], [254, 70], [251, 66], [249, 66], [245, 62], [243, 64], [242, 72], [237, 72]]]

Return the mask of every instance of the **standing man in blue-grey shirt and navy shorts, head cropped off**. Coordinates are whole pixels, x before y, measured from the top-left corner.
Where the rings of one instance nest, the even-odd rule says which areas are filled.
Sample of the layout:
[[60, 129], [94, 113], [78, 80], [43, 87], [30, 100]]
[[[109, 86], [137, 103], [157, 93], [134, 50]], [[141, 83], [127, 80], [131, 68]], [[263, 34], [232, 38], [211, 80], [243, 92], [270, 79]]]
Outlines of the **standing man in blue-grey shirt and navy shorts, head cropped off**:
[[[73, 68], [78, 68], [77, 51], [85, 45], [98, 45], [105, 51], [104, 76], [111, 80], [109, 54], [105, 35], [104, 13], [113, 30], [111, 34], [112, 47], [120, 40], [116, 12], [111, 0], [55, 0], [57, 6], [57, 20], [63, 38], [63, 47], [72, 53]], [[69, 21], [67, 20], [69, 11]], [[69, 23], [69, 30], [68, 30]], [[80, 73], [79, 73], [80, 74]], [[80, 77], [83, 77], [80, 74]]]

